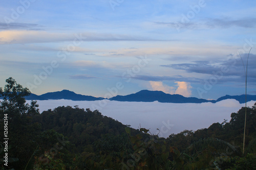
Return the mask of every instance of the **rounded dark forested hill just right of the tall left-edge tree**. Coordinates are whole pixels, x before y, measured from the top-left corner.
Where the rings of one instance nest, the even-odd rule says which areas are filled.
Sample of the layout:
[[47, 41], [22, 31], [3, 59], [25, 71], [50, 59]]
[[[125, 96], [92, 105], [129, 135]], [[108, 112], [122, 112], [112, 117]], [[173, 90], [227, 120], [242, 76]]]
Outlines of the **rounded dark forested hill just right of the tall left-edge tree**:
[[[98, 110], [57, 107], [44, 111], [33, 117], [33, 121], [40, 123], [42, 131], [54, 130], [65, 136], [75, 144], [76, 152], [90, 151], [92, 144], [102, 135], [121, 135], [125, 127], [111, 117], [103, 116]], [[132, 129], [133, 134], [139, 133]]]

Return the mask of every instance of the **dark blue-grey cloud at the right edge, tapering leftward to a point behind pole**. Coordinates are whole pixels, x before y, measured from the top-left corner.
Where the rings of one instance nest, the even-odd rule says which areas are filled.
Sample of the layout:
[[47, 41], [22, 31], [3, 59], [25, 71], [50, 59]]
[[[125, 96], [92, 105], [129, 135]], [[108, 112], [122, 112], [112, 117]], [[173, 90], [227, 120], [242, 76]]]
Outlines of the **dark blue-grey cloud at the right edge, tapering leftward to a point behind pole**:
[[[160, 65], [160, 66], [170, 67], [177, 70], [185, 70], [188, 73], [204, 74], [208, 76], [221, 75], [218, 77], [220, 79], [218, 80], [218, 83], [244, 82], [245, 71], [244, 71], [243, 62], [246, 67], [248, 54], [241, 55], [243, 62], [241, 61], [241, 58], [238, 56], [234, 56], [231, 54], [229, 54], [228, 56], [230, 57], [229, 60], [194, 61], [191, 63], [166, 64], [166, 65]], [[254, 82], [254, 83], [256, 83], [255, 63], [256, 63], [256, 55], [249, 54], [248, 78], [250, 78], [250, 82]]]

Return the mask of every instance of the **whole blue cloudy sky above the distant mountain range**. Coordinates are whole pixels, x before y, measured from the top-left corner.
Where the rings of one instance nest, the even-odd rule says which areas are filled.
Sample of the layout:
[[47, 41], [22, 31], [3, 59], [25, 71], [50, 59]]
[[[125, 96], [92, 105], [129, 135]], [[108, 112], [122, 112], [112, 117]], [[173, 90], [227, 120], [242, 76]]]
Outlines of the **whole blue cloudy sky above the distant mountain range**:
[[256, 94], [255, 14], [256, 1], [240, 0], [2, 0], [0, 87], [12, 77], [38, 95], [218, 99], [245, 93], [250, 52]]

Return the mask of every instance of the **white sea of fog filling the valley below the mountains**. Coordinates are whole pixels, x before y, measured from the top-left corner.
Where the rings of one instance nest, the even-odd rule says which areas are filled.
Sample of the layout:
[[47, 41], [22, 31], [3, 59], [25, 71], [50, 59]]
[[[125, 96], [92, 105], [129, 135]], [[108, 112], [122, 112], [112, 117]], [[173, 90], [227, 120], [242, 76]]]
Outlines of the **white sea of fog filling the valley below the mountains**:
[[[27, 101], [30, 103], [30, 101]], [[230, 120], [230, 114], [237, 112], [245, 104], [228, 99], [218, 103], [160, 103], [160, 102], [117, 102], [117, 101], [71, 101], [48, 100], [37, 101], [40, 112], [54, 109], [58, 106], [78, 105], [79, 108], [99, 110], [102, 115], [112, 117], [124, 125], [132, 128], [150, 129], [152, 134], [168, 137], [170, 134], [183, 130], [196, 131], [208, 128], [213, 123]], [[255, 101], [247, 102], [252, 107]], [[100, 107], [101, 106], [101, 107]], [[157, 130], [159, 129], [160, 132]]]

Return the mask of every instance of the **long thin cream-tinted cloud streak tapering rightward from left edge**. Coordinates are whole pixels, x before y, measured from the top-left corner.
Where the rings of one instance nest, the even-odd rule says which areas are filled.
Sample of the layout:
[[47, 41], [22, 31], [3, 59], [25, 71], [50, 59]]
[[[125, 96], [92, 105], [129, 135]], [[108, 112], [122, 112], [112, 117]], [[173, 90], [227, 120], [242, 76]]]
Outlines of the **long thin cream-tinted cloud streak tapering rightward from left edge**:
[[5, 43], [43, 43], [74, 41], [77, 37], [83, 41], [165, 41], [142, 36], [111, 33], [83, 32], [79, 34], [57, 33], [36, 30], [5, 30], [0, 32], [0, 44]]

